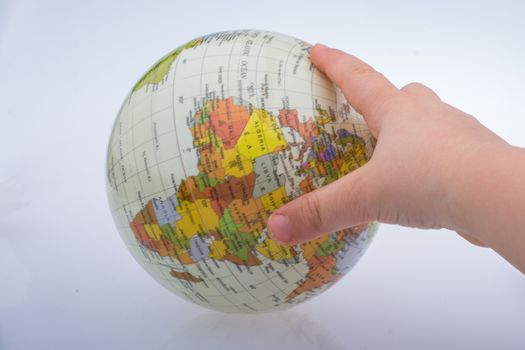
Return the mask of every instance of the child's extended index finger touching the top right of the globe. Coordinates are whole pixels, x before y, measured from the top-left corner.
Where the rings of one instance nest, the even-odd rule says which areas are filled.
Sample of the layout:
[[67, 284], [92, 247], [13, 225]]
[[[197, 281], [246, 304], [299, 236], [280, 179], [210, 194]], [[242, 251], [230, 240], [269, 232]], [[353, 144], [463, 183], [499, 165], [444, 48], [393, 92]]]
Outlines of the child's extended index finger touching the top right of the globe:
[[315, 45], [314, 65], [341, 88], [348, 102], [361, 113], [377, 136], [383, 115], [381, 109], [400, 96], [399, 90], [371, 66], [343, 51]]

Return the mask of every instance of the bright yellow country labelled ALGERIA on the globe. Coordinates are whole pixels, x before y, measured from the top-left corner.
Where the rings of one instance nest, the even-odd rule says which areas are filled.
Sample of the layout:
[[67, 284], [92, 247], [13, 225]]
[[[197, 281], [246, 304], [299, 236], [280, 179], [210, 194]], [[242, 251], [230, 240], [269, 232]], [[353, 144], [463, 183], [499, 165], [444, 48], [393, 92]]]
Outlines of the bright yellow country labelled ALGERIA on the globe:
[[275, 118], [262, 109], [254, 109], [235, 145], [240, 154], [255, 159], [286, 147], [286, 140]]

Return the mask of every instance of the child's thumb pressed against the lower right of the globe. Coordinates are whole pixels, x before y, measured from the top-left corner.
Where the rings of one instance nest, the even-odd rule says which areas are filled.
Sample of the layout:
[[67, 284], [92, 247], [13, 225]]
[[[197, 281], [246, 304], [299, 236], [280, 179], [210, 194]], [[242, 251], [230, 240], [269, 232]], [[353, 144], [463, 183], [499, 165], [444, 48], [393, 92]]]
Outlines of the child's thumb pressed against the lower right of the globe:
[[366, 202], [374, 203], [369, 200], [372, 187], [364, 184], [368, 168], [369, 164], [277, 209], [268, 220], [271, 238], [297, 244], [371, 221], [373, 211]]

